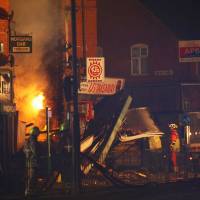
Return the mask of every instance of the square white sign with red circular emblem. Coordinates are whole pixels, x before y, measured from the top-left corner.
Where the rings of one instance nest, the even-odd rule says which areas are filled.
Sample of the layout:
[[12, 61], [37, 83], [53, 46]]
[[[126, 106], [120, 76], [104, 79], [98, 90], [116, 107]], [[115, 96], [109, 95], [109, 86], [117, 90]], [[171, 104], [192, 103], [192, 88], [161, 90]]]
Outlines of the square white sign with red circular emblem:
[[101, 82], [104, 80], [105, 62], [104, 57], [87, 58], [87, 81]]

